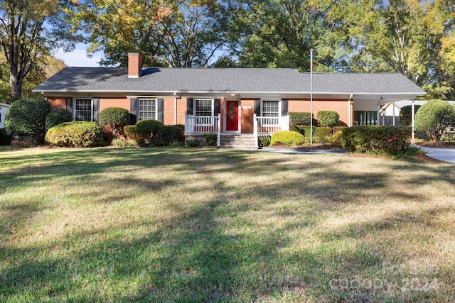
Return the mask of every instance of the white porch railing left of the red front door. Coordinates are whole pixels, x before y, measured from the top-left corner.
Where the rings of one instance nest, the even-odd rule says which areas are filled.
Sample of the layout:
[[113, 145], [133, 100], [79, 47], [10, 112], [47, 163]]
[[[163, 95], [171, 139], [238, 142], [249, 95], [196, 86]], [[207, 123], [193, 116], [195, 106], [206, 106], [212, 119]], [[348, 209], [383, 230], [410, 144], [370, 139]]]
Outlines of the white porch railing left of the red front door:
[[216, 133], [217, 146], [220, 146], [221, 114], [218, 116], [185, 115], [185, 133]]

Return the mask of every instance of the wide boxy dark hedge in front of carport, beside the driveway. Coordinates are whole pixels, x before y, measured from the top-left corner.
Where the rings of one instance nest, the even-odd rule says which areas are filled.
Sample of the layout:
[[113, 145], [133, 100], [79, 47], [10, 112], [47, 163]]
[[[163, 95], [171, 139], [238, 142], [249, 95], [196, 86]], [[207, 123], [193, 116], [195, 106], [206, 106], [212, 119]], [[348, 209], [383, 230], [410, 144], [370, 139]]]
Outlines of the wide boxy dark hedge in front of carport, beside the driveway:
[[411, 129], [394, 126], [355, 126], [342, 131], [341, 145], [356, 153], [398, 155], [410, 148]]

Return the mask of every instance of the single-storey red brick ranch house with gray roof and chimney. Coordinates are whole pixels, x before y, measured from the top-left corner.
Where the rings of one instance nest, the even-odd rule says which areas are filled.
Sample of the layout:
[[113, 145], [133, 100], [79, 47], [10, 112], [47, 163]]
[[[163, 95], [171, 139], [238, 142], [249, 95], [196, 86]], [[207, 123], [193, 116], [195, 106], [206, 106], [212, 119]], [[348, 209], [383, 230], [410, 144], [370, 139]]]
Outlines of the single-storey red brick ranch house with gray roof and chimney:
[[[65, 67], [33, 92], [74, 120], [122, 107], [137, 121], [184, 124], [186, 138], [218, 133], [218, 145], [257, 146], [258, 135], [289, 129], [289, 112], [310, 112], [310, 79], [296, 69], [142, 67], [129, 53], [127, 68]], [[312, 92], [314, 115], [337, 111], [341, 126], [377, 124], [381, 104], [425, 94], [393, 73], [314, 73]]]

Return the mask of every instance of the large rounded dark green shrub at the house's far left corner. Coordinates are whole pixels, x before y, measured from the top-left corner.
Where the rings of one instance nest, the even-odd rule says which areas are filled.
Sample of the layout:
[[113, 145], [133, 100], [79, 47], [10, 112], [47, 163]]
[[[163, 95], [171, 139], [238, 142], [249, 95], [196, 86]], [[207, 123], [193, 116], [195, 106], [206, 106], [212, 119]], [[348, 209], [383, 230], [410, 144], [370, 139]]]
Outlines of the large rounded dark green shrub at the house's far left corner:
[[11, 104], [5, 116], [5, 130], [12, 136], [31, 136], [43, 143], [45, 116], [50, 103], [45, 99], [18, 99]]

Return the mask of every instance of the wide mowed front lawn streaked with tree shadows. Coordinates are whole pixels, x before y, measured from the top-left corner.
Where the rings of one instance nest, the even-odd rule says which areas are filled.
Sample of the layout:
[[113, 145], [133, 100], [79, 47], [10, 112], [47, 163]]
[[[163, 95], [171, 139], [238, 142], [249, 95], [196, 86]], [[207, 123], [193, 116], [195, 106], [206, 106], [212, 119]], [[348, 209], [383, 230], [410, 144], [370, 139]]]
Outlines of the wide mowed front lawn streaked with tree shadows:
[[455, 165], [0, 152], [0, 302], [451, 302]]

